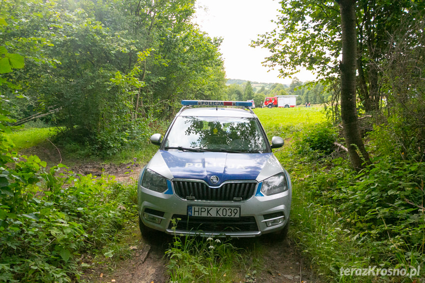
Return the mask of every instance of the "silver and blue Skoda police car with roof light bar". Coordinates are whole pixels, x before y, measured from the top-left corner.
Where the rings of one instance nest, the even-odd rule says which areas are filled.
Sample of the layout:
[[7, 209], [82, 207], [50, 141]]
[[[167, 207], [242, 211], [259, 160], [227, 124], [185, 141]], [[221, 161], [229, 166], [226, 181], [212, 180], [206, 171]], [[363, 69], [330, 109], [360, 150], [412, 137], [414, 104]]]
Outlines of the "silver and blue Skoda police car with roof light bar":
[[273, 137], [269, 144], [251, 102], [182, 104], [165, 136], [151, 136], [160, 148], [138, 179], [141, 232], [286, 234], [291, 179], [271, 151], [283, 139]]

